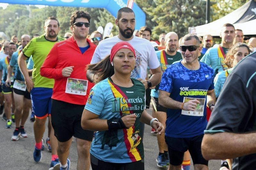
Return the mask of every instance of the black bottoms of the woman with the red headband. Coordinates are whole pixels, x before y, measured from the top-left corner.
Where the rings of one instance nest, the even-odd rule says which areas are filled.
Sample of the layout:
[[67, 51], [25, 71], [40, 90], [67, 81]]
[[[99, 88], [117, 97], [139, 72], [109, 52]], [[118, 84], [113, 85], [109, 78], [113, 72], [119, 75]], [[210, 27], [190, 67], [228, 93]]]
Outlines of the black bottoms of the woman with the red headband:
[[144, 160], [130, 163], [110, 163], [97, 159], [92, 154], [90, 158], [92, 170], [144, 170]]

